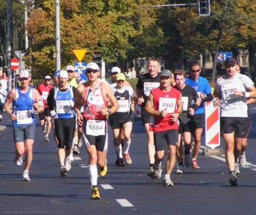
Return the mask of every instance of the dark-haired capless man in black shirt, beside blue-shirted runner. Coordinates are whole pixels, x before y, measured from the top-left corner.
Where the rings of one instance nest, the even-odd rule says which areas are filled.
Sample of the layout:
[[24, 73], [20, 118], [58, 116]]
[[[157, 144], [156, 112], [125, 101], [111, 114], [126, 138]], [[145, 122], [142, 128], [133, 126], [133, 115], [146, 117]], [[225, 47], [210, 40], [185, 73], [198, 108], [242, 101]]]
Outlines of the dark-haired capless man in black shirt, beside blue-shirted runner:
[[[178, 169], [177, 173], [182, 174], [185, 167], [190, 167], [191, 157], [190, 151], [192, 149], [191, 132], [193, 129], [189, 126], [191, 116], [194, 115], [197, 108], [200, 106], [201, 99], [199, 98], [197, 91], [192, 87], [185, 84], [186, 74], [184, 70], [176, 70], [174, 72], [175, 88], [182, 93], [182, 105], [183, 111], [179, 117], [179, 136], [177, 144], [177, 158], [178, 158]], [[185, 158], [183, 156], [182, 141], [185, 147]], [[183, 162], [184, 160], [184, 162]]]

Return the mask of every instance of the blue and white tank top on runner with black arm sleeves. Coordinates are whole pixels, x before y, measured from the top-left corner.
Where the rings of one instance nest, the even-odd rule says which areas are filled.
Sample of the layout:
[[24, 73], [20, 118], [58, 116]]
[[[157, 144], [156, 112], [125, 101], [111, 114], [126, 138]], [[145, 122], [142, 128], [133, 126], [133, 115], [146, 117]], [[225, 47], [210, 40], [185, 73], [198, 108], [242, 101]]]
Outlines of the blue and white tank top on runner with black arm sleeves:
[[69, 85], [69, 88], [65, 92], [61, 92], [55, 87], [54, 100], [56, 103], [56, 119], [69, 119], [75, 117], [74, 94], [71, 85]]

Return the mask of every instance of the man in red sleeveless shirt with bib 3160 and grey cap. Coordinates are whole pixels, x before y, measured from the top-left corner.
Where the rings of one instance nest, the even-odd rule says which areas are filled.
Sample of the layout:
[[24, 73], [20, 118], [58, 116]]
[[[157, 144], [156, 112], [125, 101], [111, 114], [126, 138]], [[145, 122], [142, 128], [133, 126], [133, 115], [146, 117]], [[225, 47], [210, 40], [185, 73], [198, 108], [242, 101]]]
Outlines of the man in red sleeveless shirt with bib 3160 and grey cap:
[[[178, 143], [178, 117], [182, 114], [182, 94], [171, 86], [172, 74], [164, 70], [160, 74], [160, 86], [152, 89], [146, 102], [145, 110], [154, 117], [153, 139], [155, 143], [155, 167], [165, 156], [165, 143], [168, 147], [165, 186], [173, 186], [170, 174], [176, 162]], [[159, 173], [158, 177], [161, 177]]]

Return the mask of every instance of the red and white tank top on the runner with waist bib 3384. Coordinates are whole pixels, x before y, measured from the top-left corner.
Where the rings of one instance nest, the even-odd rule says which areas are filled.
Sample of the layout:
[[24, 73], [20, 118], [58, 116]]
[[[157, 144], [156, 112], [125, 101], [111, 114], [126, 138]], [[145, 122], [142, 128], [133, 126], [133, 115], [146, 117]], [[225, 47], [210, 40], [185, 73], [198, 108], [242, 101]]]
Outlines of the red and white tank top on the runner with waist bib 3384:
[[106, 109], [106, 100], [103, 96], [103, 82], [94, 89], [94, 93], [89, 86], [84, 86], [84, 119], [106, 119], [105, 115], [101, 115], [101, 109]]

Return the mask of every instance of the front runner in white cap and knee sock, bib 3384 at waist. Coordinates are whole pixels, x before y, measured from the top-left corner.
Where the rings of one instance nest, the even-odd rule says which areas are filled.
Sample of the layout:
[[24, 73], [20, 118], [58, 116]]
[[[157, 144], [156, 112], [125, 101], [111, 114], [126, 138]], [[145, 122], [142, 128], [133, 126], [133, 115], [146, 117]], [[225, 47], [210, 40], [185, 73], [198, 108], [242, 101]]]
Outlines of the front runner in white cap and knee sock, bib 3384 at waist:
[[[112, 89], [107, 83], [99, 80], [99, 66], [96, 63], [88, 63], [86, 76], [88, 82], [78, 87], [74, 108], [76, 110], [78, 124], [83, 126], [83, 139], [89, 155], [89, 176], [91, 180], [91, 198], [100, 199], [97, 186], [99, 175], [106, 175], [106, 152], [108, 150], [108, 132], [106, 117], [118, 109], [118, 102]], [[112, 107], [106, 108], [106, 101], [110, 100]], [[84, 112], [80, 109], [84, 106]]]

